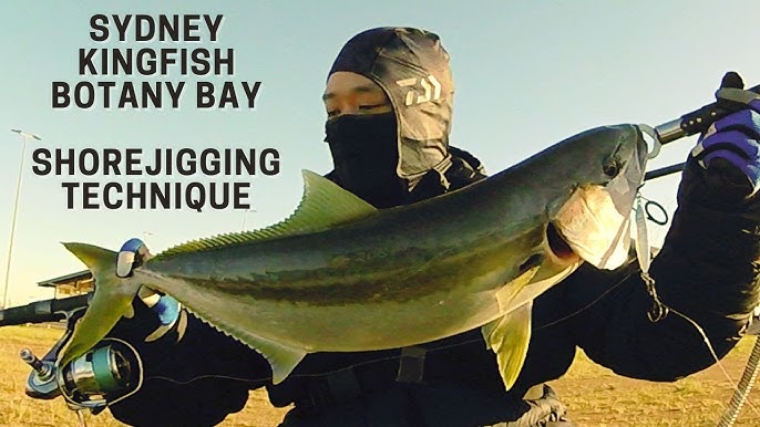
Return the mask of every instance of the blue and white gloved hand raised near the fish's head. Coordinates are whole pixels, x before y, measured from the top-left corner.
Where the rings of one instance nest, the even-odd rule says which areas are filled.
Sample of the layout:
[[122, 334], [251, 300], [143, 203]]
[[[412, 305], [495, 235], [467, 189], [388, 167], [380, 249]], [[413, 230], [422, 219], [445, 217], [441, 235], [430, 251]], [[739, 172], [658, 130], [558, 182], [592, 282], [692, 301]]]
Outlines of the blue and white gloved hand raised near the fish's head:
[[[732, 100], [722, 101], [743, 108], [713, 123], [690, 155], [706, 171], [708, 185], [727, 201], [750, 198], [760, 188], [760, 94], [739, 91], [743, 84], [739, 85], [726, 94]], [[719, 102], [721, 92], [728, 91], [721, 87]]]

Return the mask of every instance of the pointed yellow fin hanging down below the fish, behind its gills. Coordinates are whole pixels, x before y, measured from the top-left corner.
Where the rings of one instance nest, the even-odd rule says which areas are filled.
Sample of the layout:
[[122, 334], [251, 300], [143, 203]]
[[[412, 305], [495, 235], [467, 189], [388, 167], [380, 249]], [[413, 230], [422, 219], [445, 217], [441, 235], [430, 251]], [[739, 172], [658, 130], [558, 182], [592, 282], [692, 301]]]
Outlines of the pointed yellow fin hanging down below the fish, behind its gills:
[[481, 329], [486, 345], [496, 353], [499, 373], [507, 390], [514, 385], [525, 363], [531, 341], [532, 311], [533, 302], [528, 301]]

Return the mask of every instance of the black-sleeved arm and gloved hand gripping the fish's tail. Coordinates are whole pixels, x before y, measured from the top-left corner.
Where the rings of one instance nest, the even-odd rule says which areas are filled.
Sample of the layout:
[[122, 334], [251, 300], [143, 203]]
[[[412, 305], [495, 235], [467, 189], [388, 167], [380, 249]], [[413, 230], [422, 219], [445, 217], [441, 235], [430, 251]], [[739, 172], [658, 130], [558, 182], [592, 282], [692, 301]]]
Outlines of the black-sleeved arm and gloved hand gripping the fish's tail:
[[[127, 240], [116, 257], [117, 275], [132, 277], [150, 258], [142, 240]], [[141, 393], [155, 397], [111, 405], [120, 420], [130, 425], [172, 425], [177, 419], [216, 425], [245, 406], [248, 388], [269, 381], [270, 373], [260, 378], [260, 373], [268, 372], [264, 357], [188, 314], [174, 298], [142, 287], [132, 305], [134, 315], [119, 321], [109, 336], [137, 350], [145, 369]], [[192, 333], [185, 334], [186, 330]]]

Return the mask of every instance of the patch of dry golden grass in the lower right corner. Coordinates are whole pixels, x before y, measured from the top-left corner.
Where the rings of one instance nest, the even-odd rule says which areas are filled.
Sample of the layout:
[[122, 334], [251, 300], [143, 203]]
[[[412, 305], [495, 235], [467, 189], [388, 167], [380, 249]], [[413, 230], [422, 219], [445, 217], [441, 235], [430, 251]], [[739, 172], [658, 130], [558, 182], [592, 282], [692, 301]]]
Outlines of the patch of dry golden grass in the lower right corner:
[[[754, 339], [742, 340], [721, 361], [735, 384], [753, 344]], [[615, 375], [582, 352], [571, 371], [552, 386], [578, 427], [715, 427], [733, 394], [718, 366], [675, 383], [648, 383]], [[735, 426], [760, 425], [760, 390], [753, 389], [748, 402]]]

